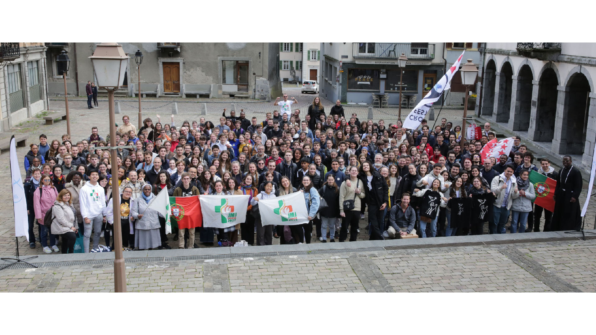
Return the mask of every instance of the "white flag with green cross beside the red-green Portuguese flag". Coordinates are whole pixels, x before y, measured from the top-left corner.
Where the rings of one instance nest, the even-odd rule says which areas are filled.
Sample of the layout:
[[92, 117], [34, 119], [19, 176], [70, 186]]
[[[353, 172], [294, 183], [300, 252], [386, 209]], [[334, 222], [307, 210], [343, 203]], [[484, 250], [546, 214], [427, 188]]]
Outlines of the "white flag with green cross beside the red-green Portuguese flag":
[[228, 228], [246, 221], [250, 196], [200, 196], [203, 227]]

